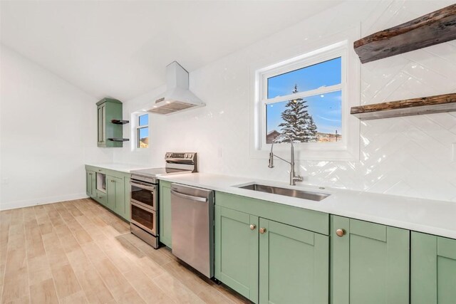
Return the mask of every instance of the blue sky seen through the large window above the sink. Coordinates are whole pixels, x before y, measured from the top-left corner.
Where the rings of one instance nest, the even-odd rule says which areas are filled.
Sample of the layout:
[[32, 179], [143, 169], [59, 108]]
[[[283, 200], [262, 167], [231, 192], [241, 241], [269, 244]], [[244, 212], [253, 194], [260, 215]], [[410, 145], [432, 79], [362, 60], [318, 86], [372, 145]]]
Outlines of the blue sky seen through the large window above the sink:
[[[294, 90], [294, 85], [298, 85], [299, 92], [304, 90], [314, 90], [323, 86], [336, 85], [341, 83], [341, 58], [325, 61], [316, 65], [311, 65], [300, 70], [277, 75], [268, 79], [268, 98], [289, 95]], [[304, 98], [309, 105], [307, 110], [314, 117], [318, 132], [341, 134], [341, 91], [314, 95]], [[267, 105], [266, 119], [267, 130], [280, 131], [279, 124], [281, 112], [286, 108], [286, 101]]]

